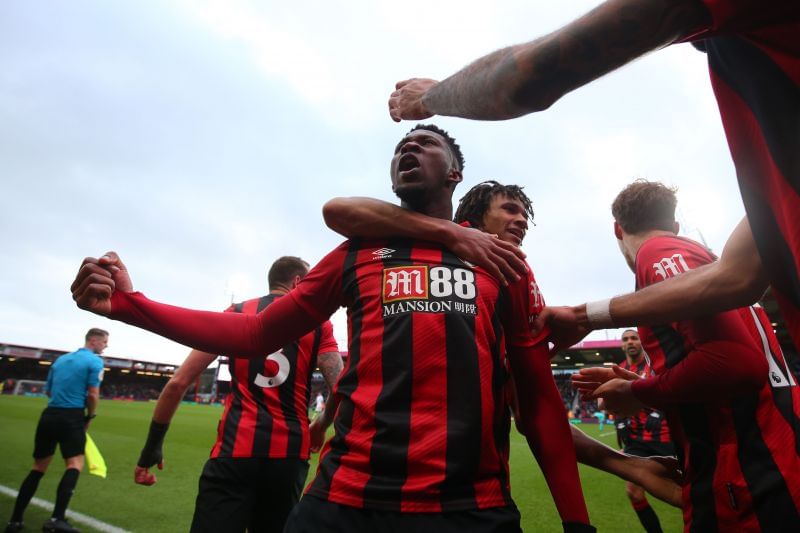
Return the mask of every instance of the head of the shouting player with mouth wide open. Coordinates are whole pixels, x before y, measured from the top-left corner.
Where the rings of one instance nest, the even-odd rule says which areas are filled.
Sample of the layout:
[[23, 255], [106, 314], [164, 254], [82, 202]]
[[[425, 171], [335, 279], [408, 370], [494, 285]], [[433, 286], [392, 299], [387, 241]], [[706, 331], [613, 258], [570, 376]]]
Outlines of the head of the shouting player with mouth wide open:
[[391, 163], [392, 190], [403, 202], [416, 205], [446, 188], [453, 171], [450, 148], [432, 131], [412, 131], [397, 143]]

